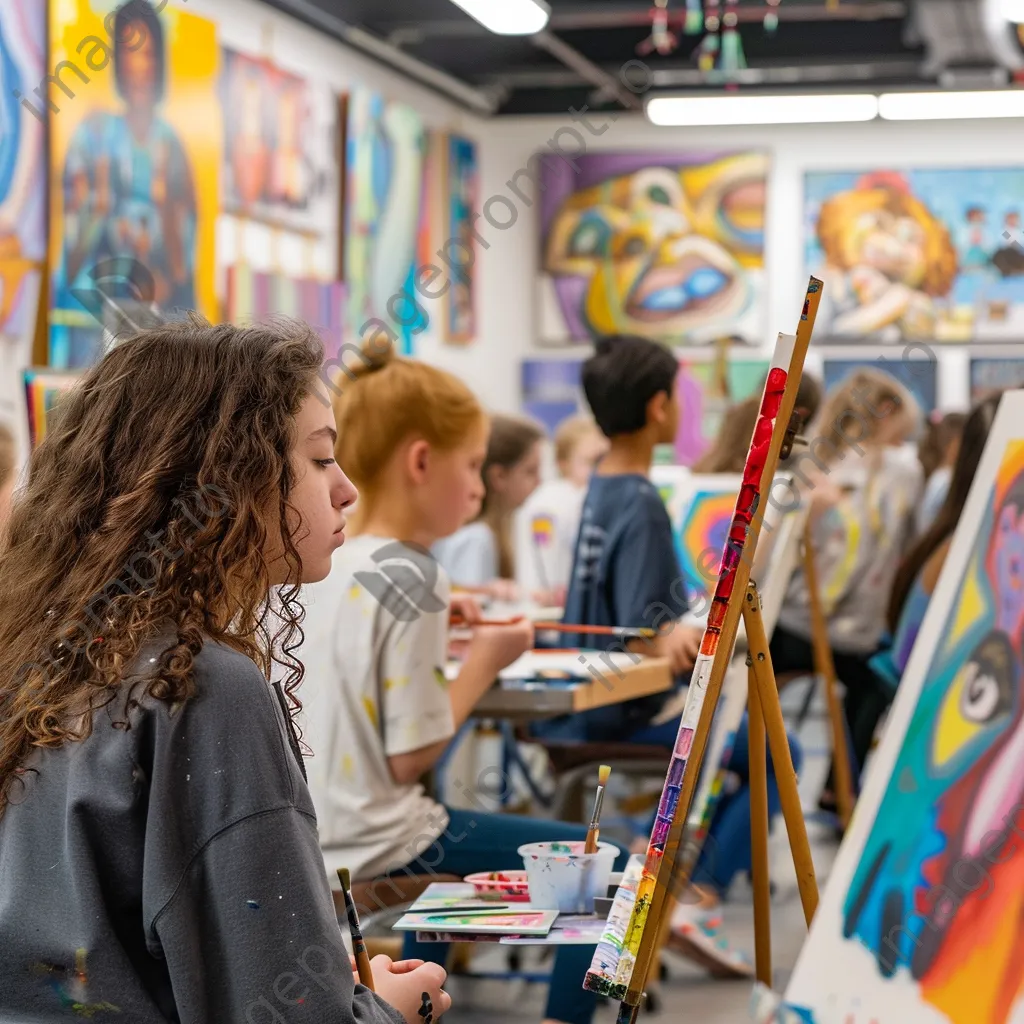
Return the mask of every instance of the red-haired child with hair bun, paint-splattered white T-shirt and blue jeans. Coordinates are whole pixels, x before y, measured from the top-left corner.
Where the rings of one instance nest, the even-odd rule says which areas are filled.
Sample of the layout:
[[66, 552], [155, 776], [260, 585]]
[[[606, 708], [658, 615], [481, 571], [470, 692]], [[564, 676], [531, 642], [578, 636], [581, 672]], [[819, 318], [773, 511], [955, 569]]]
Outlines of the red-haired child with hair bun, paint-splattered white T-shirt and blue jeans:
[[[487, 417], [461, 381], [434, 367], [367, 353], [335, 404], [338, 462], [359, 487], [354, 537], [334, 571], [309, 588], [303, 621], [308, 690], [304, 735], [315, 752], [309, 786], [329, 877], [357, 880], [521, 867], [523, 843], [580, 841], [585, 825], [444, 807], [420, 780], [444, 753], [501, 669], [527, 650], [519, 621], [477, 626], [449, 680], [449, 614], [470, 624], [472, 599], [453, 600], [429, 554], [473, 519], [484, 497]], [[472, 796], [471, 791], [467, 794]], [[628, 859], [621, 850], [620, 869]], [[404, 953], [444, 962], [447, 947], [406, 939]], [[589, 1024], [583, 990], [591, 946], [559, 949], [547, 1018]]]

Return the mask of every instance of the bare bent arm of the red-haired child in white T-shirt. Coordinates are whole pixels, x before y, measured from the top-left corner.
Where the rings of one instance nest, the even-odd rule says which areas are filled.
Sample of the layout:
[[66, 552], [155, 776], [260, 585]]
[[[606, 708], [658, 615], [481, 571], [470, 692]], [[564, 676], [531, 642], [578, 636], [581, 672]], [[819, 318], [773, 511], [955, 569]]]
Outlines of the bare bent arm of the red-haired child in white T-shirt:
[[[446, 715], [447, 717], [443, 720], [451, 724], [444, 735], [432, 742], [416, 745], [410, 750], [399, 750], [401, 743], [397, 739], [392, 743], [385, 731], [388, 767], [395, 782], [409, 785], [417, 781], [424, 772], [429, 771], [437, 763], [437, 759], [452, 741], [454, 733], [472, 714], [480, 697], [494, 685], [498, 673], [528, 650], [532, 642], [534, 628], [526, 621], [512, 626], [478, 627], [470, 641], [462, 671], [451, 684], [445, 681], [443, 685], [440, 685], [439, 681], [444, 679], [444, 646], [446, 645], [446, 634], [442, 634], [441, 646], [439, 648], [436, 645], [433, 647], [433, 656], [438, 658], [434, 665], [439, 667], [431, 669], [429, 681], [426, 678], [425, 663], [422, 660], [419, 669], [411, 670], [418, 673], [417, 678], [420, 680], [417, 693], [415, 696], [411, 694], [415, 703], [407, 702], [400, 709], [396, 708], [393, 713], [388, 714], [386, 722], [397, 721], [399, 718], [409, 722], [410, 715], [416, 715], [417, 708], [426, 705], [428, 709], [426, 714], [436, 716], [438, 721]], [[432, 687], [437, 686], [440, 687], [439, 694], [435, 689], [432, 689]], [[386, 699], [387, 695], [385, 695]], [[420, 727], [412, 722], [400, 728], [403, 734], [410, 730], [414, 733], [421, 731]]]

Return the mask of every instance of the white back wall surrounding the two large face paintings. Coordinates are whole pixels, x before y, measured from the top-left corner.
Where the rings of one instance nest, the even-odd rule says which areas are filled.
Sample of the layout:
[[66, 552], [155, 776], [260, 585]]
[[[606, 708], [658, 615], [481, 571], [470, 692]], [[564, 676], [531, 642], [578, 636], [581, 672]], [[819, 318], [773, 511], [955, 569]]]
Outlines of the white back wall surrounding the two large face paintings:
[[[600, 128], [604, 118], [593, 119]], [[527, 158], [543, 150], [563, 125], [558, 118], [516, 118], [484, 125], [482, 196], [510, 195], [506, 184]], [[586, 134], [586, 132], [584, 132]], [[566, 151], [573, 142], [564, 137]], [[674, 150], [737, 150], [765, 147], [771, 153], [768, 191], [767, 251], [768, 318], [764, 338], [770, 350], [779, 331], [796, 329], [807, 286], [803, 255], [803, 174], [806, 170], [869, 170], [885, 167], [1021, 166], [1024, 133], [1008, 121], [916, 122], [887, 121], [854, 125], [777, 126], [765, 128], [657, 128], [642, 116], [623, 115], [599, 136], [587, 136], [588, 148], [652, 152]], [[1022, 197], [1024, 199], [1024, 197]], [[540, 244], [534, 210], [522, 209], [517, 223], [498, 231], [480, 222], [481, 232], [495, 237], [480, 256], [481, 340], [473, 358], [461, 365], [472, 371], [472, 383], [485, 400], [502, 410], [518, 406], [519, 364], [523, 357], [562, 355], [536, 345], [537, 304], [534, 285]], [[820, 373], [821, 352], [838, 358], [876, 357], [886, 351], [898, 358], [902, 348], [834, 347], [812, 350], [808, 370]], [[937, 350], [939, 404], [964, 408], [968, 401], [968, 350], [944, 346]], [[1024, 346], [972, 346], [978, 355], [1024, 355]], [[484, 372], [477, 376], [482, 365]]]

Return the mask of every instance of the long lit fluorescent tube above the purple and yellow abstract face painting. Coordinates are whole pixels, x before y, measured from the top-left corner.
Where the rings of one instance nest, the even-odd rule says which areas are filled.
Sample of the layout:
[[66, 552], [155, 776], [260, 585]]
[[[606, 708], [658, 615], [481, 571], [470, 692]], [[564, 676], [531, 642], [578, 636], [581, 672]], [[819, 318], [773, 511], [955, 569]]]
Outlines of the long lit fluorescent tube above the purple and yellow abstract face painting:
[[655, 125], [796, 125], [870, 121], [879, 113], [868, 93], [812, 96], [652, 96], [647, 118]]

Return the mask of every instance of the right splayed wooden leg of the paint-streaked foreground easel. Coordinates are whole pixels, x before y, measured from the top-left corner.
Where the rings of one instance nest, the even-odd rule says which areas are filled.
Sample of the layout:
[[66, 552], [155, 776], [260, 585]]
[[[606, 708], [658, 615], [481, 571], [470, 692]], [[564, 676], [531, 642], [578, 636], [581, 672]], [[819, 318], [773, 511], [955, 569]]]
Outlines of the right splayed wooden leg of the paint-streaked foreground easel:
[[[790, 837], [793, 865], [797, 870], [800, 901], [804, 907], [804, 919], [810, 927], [811, 919], [818, 907], [818, 883], [814, 874], [814, 861], [811, 858], [811, 844], [807, 839], [804, 810], [800, 806], [797, 772], [793, 767], [790, 741], [785, 735], [785, 721], [782, 718], [782, 706], [778, 700], [778, 687], [775, 684], [775, 673], [771, 667], [768, 636], [765, 633], [764, 620], [761, 617], [761, 598], [758, 595], [757, 587], [750, 584], [743, 596], [745, 598], [743, 601], [743, 625], [746, 628], [751, 672], [757, 682], [760, 711], [765, 729], [768, 732], [768, 748], [771, 751], [772, 765], [775, 769], [775, 782], [778, 785], [778, 798], [782, 805], [785, 830]], [[753, 759], [754, 749], [752, 745], [752, 764]]]

